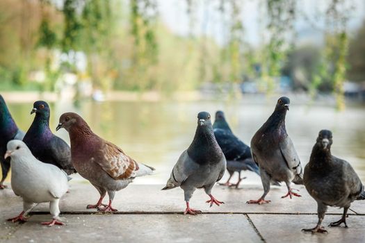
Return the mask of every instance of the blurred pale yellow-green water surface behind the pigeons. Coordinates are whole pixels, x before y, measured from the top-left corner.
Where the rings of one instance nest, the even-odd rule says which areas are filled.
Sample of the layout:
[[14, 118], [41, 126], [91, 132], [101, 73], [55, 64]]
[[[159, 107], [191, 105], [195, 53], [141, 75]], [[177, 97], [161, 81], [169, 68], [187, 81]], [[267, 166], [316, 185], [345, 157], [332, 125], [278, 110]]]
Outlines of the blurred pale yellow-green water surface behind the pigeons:
[[[79, 113], [95, 133], [117, 144], [137, 161], [156, 168], [154, 176], [138, 178], [135, 183], [164, 184], [179, 155], [193, 140], [197, 112], [206, 110], [214, 117], [216, 110], [225, 111], [234, 133], [250, 144], [252, 135], [273, 112], [275, 101], [81, 101], [78, 106], [51, 103], [50, 126], [56, 135], [70, 143], [64, 129], [55, 131], [58, 117], [68, 111]], [[26, 131], [33, 121], [34, 115], [30, 115], [33, 103], [8, 103], [8, 106], [18, 126]], [[292, 100], [286, 115], [286, 130], [304, 165], [318, 131], [332, 130], [332, 153], [348, 160], [365, 181], [364, 121], [363, 106], [349, 106], [337, 112], [332, 106], [309, 107]], [[243, 183], [261, 183], [258, 176], [244, 174], [249, 176]]]

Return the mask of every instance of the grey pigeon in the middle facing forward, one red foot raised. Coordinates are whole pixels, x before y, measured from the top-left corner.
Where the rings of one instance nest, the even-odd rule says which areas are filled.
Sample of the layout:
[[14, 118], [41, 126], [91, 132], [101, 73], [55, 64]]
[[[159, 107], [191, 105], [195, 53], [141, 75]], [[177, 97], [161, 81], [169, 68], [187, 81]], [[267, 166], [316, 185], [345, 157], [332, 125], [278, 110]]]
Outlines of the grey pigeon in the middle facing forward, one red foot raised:
[[181, 153], [162, 190], [181, 187], [186, 201], [184, 214], [196, 215], [202, 211], [190, 208], [189, 200], [197, 188], [204, 188], [205, 193], [210, 197], [210, 200], [206, 201], [211, 203], [210, 206], [213, 206], [213, 203], [217, 206], [223, 203], [211, 194], [211, 190], [225, 174], [225, 169], [225, 156], [214, 137], [211, 116], [208, 112], [199, 112], [193, 142]]

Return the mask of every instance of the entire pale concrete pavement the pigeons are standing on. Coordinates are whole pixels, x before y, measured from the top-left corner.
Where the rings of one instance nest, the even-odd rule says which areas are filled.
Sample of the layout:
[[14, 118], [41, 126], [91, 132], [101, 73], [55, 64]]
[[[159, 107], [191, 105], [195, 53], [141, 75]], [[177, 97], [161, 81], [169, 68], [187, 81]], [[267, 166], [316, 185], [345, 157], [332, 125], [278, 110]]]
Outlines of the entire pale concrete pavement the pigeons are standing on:
[[[37, 206], [25, 224], [13, 224], [5, 219], [22, 210], [22, 200], [11, 189], [0, 191], [1, 242], [365, 242], [365, 201], [352, 203], [349, 228], [327, 227], [341, 217], [342, 210], [330, 208], [324, 224], [328, 234], [302, 233], [302, 228], [317, 222], [316, 203], [303, 186], [302, 197], [281, 199], [286, 187], [273, 187], [267, 196], [272, 202], [248, 205], [262, 194], [261, 185], [245, 185], [241, 189], [216, 185], [213, 195], [222, 206], [205, 203], [208, 196], [197, 190], [190, 201], [202, 215], [182, 215], [185, 209], [181, 189], [161, 191], [163, 185], [129, 185], [117, 192], [113, 207], [119, 212], [103, 215], [87, 210], [96, 203], [97, 191], [87, 182], [71, 181], [70, 193], [60, 201], [61, 217], [66, 226], [48, 228], [47, 203]], [[107, 201], [107, 197], [104, 200]]]

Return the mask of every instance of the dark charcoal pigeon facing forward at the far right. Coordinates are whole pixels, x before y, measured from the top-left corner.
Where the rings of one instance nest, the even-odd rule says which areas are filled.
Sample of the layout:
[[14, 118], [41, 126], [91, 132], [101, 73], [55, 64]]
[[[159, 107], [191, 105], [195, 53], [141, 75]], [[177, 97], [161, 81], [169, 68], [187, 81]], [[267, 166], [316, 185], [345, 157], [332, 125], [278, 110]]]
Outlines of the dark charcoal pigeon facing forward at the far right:
[[346, 224], [346, 216], [350, 203], [364, 200], [364, 186], [352, 169], [349, 162], [336, 158], [331, 154], [332, 132], [319, 132], [316, 144], [311, 151], [309, 163], [305, 166], [304, 185], [318, 205], [318, 224], [314, 228], [303, 229], [311, 233], [327, 233], [321, 226], [327, 206], [343, 208], [343, 215], [339, 221], [329, 226]]

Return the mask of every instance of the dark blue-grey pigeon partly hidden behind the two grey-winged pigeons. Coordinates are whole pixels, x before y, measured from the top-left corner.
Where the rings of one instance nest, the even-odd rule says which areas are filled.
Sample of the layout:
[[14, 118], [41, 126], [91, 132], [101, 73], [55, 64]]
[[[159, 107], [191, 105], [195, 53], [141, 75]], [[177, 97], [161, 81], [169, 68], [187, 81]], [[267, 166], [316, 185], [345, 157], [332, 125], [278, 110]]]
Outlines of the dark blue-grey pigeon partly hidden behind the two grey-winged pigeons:
[[[225, 120], [224, 112], [218, 110], [216, 112], [216, 119], [213, 124], [214, 135], [216, 140], [225, 154], [227, 160], [227, 171], [229, 178], [226, 183], [221, 185], [235, 186], [238, 188], [239, 183], [245, 178], [241, 178], [241, 171], [249, 170], [260, 175], [259, 167], [252, 159], [250, 146], [247, 146], [244, 142], [238, 139], [233, 133], [227, 121]], [[234, 171], [238, 171], [238, 182], [231, 184], [231, 180]]]

